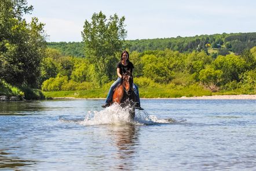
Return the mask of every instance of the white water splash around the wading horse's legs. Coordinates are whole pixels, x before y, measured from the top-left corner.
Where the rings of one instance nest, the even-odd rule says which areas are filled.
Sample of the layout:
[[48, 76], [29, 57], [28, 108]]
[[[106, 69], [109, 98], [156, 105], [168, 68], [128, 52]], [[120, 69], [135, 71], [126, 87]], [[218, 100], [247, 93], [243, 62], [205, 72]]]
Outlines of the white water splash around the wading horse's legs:
[[154, 125], [168, 124], [174, 120], [159, 120], [156, 116], [149, 115], [147, 111], [136, 110], [134, 120], [130, 119], [129, 106], [120, 107], [114, 104], [101, 111], [88, 111], [85, 120], [80, 121], [82, 125]]

